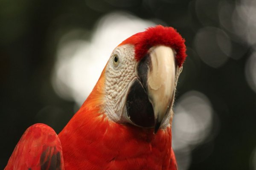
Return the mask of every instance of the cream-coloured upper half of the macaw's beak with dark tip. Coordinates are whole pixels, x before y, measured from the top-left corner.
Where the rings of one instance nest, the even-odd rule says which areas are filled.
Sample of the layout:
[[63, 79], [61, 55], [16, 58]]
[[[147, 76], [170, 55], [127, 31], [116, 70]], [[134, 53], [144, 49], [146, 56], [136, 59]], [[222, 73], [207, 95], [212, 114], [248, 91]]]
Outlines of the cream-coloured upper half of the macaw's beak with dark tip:
[[175, 56], [172, 48], [158, 46], [150, 52], [148, 71], [148, 99], [153, 105], [155, 130], [169, 112], [175, 92]]

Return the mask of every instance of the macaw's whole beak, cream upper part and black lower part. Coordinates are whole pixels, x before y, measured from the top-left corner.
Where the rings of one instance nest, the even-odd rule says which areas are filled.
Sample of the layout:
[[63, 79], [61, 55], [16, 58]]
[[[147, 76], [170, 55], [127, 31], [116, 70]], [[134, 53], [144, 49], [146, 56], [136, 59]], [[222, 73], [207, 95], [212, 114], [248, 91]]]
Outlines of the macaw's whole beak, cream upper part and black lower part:
[[153, 47], [137, 67], [128, 92], [129, 119], [140, 127], [154, 127], [156, 133], [168, 118], [175, 95], [175, 51], [163, 45]]

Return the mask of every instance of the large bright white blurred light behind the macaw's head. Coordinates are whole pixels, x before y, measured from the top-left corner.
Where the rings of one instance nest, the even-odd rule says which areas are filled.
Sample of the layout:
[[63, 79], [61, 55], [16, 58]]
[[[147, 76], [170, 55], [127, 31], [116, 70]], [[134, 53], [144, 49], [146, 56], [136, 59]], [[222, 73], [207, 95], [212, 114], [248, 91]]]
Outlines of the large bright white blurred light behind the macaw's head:
[[[91, 40], [87, 31], [70, 30], [58, 45], [57, 60], [52, 73], [52, 85], [64, 99], [81, 105], [92, 91], [116, 46], [145, 28], [156, 25], [124, 12], [107, 14], [99, 20]], [[64, 40], [65, 39], [65, 40]]]

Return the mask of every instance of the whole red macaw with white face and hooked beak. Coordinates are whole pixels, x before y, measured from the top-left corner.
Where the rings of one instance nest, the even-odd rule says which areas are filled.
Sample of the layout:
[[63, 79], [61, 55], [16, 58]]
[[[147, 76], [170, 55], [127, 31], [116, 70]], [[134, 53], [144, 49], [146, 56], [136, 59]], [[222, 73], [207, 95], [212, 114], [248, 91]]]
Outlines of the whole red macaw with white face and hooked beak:
[[184, 42], [163, 26], [123, 41], [61, 133], [32, 125], [5, 170], [177, 170], [172, 105]]

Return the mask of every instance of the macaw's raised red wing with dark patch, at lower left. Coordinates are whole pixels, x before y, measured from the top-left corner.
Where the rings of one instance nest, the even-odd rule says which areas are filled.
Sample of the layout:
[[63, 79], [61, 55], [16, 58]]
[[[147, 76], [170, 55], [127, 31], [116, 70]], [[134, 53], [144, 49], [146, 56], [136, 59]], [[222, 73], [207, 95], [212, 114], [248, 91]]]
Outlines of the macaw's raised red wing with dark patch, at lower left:
[[4, 170], [64, 170], [58, 135], [44, 124], [30, 126], [21, 136]]

